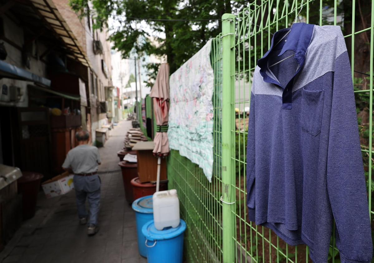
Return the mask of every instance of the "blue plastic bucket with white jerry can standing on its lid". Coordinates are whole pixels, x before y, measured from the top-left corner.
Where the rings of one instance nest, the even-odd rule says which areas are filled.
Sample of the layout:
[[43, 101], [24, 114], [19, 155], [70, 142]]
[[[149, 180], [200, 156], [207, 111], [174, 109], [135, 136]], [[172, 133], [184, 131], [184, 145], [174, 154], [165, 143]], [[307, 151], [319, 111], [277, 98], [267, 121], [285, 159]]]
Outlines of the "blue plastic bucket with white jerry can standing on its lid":
[[148, 263], [182, 263], [183, 236], [186, 222], [182, 219], [178, 227], [166, 227], [157, 230], [154, 221], [144, 224], [142, 233], [145, 236]]

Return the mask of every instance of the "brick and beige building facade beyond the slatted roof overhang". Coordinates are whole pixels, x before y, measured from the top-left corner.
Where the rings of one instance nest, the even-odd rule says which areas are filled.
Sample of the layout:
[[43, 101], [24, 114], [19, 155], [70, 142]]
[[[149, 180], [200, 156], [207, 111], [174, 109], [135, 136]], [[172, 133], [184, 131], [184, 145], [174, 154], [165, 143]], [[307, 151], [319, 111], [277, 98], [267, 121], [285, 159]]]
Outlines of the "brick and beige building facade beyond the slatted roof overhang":
[[[85, 16], [80, 19], [70, 9], [68, 0], [53, 0], [53, 2], [74, 34], [79, 36], [78, 41], [90, 61], [89, 67], [83, 70], [87, 80], [87, 106], [81, 109], [82, 114], [86, 116], [86, 120], [82, 121], [82, 126], [91, 132], [93, 145], [99, 146], [104, 142], [102, 142], [101, 136], [96, 140], [96, 133], [98, 135], [102, 134], [103, 125], [108, 124], [107, 114], [111, 114], [108, 112], [107, 103], [105, 102], [105, 93], [106, 90], [113, 89], [108, 31], [105, 28], [103, 30], [93, 29], [94, 21], [92, 16]], [[89, 6], [86, 8], [90, 9]]]

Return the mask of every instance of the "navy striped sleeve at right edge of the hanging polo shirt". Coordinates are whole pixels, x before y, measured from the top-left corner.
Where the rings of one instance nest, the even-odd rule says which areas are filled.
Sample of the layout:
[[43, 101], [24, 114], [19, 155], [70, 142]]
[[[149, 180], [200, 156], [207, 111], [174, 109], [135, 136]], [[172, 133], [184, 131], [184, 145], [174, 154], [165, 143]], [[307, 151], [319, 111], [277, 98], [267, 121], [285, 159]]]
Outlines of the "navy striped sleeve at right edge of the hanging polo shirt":
[[327, 191], [342, 263], [371, 262], [373, 241], [347, 52], [335, 62], [328, 144]]

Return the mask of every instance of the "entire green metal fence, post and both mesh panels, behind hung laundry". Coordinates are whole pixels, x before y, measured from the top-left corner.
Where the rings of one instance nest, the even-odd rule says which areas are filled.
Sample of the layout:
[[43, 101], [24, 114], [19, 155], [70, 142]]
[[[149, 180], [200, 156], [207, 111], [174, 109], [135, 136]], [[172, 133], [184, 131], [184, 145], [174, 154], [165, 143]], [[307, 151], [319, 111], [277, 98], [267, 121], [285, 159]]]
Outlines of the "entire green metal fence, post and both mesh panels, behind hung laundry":
[[[373, 3], [262, 0], [252, 1], [237, 15], [223, 16], [222, 34], [214, 40], [211, 56], [215, 72], [212, 183], [177, 151], [172, 151], [168, 160], [169, 187], [178, 190], [181, 217], [187, 223], [186, 262], [312, 262], [305, 245], [287, 245], [268, 228], [248, 221], [245, 202], [251, 76], [257, 60], [269, 49], [272, 34], [295, 21], [342, 28], [352, 65], [372, 216]], [[340, 262], [334, 237], [328, 262]]]

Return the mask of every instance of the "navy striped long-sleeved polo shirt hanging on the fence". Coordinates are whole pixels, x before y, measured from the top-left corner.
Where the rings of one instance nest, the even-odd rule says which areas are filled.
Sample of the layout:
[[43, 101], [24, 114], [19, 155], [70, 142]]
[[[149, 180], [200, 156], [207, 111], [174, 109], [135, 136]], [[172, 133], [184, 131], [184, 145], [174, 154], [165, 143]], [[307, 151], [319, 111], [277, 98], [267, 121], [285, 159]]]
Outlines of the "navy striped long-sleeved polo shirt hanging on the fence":
[[371, 262], [369, 208], [349, 58], [338, 26], [297, 23], [273, 36], [251, 88], [249, 220], [327, 262]]

